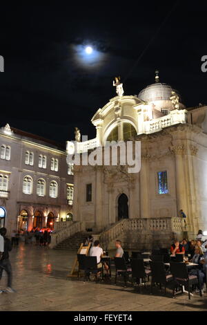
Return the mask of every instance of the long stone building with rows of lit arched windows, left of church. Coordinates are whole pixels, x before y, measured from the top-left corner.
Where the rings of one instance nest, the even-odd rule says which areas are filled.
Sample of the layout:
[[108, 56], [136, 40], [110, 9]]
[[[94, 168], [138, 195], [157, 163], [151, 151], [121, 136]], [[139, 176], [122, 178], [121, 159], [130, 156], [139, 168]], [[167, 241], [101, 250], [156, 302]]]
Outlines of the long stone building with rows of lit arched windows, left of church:
[[[57, 143], [10, 127], [0, 129], [1, 225], [53, 228], [72, 219], [73, 167]], [[1, 211], [3, 211], [1, 209]]]

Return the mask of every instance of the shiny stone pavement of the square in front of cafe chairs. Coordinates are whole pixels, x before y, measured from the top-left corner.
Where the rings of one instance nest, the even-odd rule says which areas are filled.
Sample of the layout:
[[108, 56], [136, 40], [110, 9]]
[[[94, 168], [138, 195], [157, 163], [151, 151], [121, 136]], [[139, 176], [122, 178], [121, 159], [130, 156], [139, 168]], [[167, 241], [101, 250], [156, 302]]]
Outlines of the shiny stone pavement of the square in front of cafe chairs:
[[[78, 281], [66, 279], [76, 252], [50, 250], [21, 244], [10, 253], [14, 281], [14, 294], [0, 295], [0, 310], [54, 310], [54, 311], [131, 311], [131, 310], [207, 310], [207, 295], [178, 295], [172, 299], [169, 291], [155, 288], [155, 295], [149, 295], [149, 288], [124, 288], [121, 284]], [[1, 288], [6, 286], [6, 276], [1, 279]]]

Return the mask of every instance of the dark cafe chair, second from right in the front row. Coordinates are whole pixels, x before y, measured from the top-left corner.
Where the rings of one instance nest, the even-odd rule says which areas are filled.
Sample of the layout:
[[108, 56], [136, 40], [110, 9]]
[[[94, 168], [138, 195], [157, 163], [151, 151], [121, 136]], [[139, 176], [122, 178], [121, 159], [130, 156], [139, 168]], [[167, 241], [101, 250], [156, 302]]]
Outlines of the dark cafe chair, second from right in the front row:
[[151, 295], [152, 295], [153, 285], [155, 283], [159, 284], [160, 290], [161, 290], [161, 285], [164, 285], [165, 295], [166, 295], [166, 288], [168, 284], [173, 280], [172, 275], [169, 275], [166, 272], [163, 261], [150, 261], [150, 269], [152, 275]]

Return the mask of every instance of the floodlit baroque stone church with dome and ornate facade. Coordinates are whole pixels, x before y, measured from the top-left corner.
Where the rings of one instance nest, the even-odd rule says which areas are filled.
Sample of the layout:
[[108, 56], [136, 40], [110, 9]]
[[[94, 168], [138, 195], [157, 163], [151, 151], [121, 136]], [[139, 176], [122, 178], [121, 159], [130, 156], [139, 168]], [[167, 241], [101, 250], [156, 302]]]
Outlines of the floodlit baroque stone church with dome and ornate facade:
[[166, 229], [189, 238], [207, 230], [207, 106], [186, 108], [179, 93], [156, 76], [155, 84], [139, 95], [112, 98], [92, 124], [96, 138], [77, 143], [77, 152], [92, 152], [111, 140], [139, 140], [141, 170], [128, 174], [120, 166], [75, 166], [75, 221], [101, 232], [102, 238], [106, 232], [121, 236], [117, 227], [128, 224], [127, 231], [122, 229], [128, 241], [133, 230], [140, 236], [144, 230], [148, 236], [163, 230], [157, 231], [163, 238]]

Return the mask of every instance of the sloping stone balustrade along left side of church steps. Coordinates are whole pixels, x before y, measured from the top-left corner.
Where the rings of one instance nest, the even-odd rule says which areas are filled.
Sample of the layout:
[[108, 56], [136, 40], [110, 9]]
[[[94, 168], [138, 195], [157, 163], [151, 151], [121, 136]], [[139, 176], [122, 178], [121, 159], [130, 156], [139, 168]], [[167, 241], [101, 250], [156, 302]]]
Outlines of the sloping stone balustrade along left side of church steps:
[[86, 229], [86, 225], [83, 222], [70, 222], [61, 221], [55, 223], [55, 232], [52, 233], [50, 248], [54, 248], [58, 243], [61, 243], [64, 239], [72, 236], [76, 232], [81, 232]]

